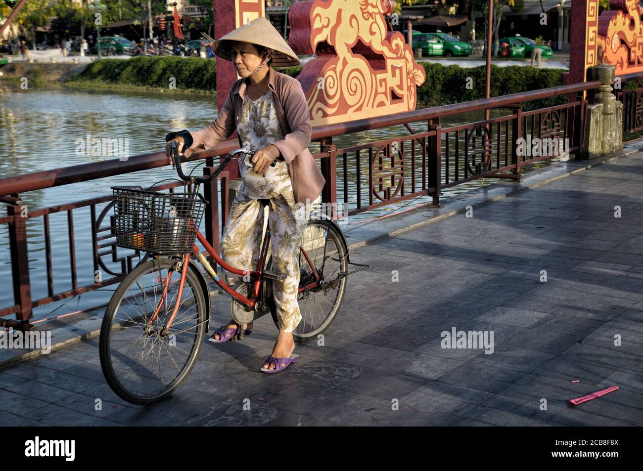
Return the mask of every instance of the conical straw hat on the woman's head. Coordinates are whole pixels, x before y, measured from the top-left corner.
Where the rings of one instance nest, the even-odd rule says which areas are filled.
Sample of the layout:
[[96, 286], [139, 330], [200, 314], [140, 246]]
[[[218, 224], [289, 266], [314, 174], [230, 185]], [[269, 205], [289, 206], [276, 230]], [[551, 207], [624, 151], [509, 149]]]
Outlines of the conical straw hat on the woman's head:
[[[226, 60], [232, 60], [230, 48], [226, 44], [226, 41], [249, 42], [273, 49], [275, 52], [273, 53], [272, 65], [276, 67], [299, 66], [302, 64], [302, 61], [299, 60], [293, 49], [288, 46], [285, 39], [275, 30], [275, 26], [262, 16], [239, 26], [236, 30], [230, 31], [230, 33], [222, 36], [212, 44], [213, 53]], [[228, 42], [228, 44], [230, 43]]]

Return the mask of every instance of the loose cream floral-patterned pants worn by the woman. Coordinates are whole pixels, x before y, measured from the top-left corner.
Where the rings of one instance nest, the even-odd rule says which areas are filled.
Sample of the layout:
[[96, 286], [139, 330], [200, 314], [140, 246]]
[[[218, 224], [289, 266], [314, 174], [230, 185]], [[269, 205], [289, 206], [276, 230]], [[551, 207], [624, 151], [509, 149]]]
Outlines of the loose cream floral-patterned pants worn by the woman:
[[[239, 163], [239, 172], [243, 181], [223, 229], [221, 257], [236, 269], [257, 270], [264, 236], [264, 210], [258, 199], [269, 199], [271, 269], [286, 275], [285, 280], [273, 280], [279, 330], [293, 332], [302, 320], [297, 301], [299, 247], [312, 204], [295, 205], [293, 186], [284, 161], [276, 161], [274, 167], [268, 167], [265, 177], [242, 163]], [[228, 280], [243, 281], [242, 275], [225, 272]]]

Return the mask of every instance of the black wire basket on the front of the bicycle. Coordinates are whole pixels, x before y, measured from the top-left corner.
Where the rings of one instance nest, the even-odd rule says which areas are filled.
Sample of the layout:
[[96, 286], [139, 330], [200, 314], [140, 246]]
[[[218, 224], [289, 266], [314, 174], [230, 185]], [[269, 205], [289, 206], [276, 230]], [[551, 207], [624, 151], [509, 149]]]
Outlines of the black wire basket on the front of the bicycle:
[[192, 252], [206, 201], [199, 193], [112, 187], [116, 245], [156, 254]]

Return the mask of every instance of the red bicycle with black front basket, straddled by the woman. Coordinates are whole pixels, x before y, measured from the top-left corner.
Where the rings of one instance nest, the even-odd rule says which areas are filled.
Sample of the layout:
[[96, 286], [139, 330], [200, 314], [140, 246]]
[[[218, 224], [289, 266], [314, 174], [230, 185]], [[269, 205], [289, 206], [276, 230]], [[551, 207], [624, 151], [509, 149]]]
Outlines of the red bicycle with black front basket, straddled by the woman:
[[[210, 324], [206, 275], [232, 298], [236, 341], [244, 338], [242, 324], [267, 312], [278, 325], [272, 283], [285, 279], [285, 274], [271, 270], [272, 256], [267, 258], [269, 223], [257, 270], [249, 272], [225, 263], [198, 230], [208, 204], [199, 186], [213, 181], [231, 159], [241, 160], [234, 157], [237, 154], [246, 154], [244, 163], [253, 166], [249, 163], [253, 152], [245, 148], [233, 150], [212, 175], [192, 177], [183, 173], [176, 142], [171, 147], [179, 178], [194, 190], [158, 193], [140, 187], [113, 187], [116, 245], [147, 251], [150, 257], [121, 281], [107, 305], [100, 330], [100, 364], [114, 393], [139, 405], [171, 395], [194, 368]], [[260, 200], [262, 209], [268, 201]], [[205, 251], [199, 250], [197, 241]], [[216, 262], [215, 267], [220, 265], [233, 274], [244, 275], [244, 282], [233, 290], [208, 262], [208, 254]], [[349, 264], [361, 268], [349, 272]], [[293, 337], [303, 342], [329, 328], [343, 301], [347, 276], [369, 265], [350, 262], [338, 224], [312, 208], [300, 246], [299, 265], [297, 296], [302, 321]], [[164, 373], [164, 369], [170, 371]]]

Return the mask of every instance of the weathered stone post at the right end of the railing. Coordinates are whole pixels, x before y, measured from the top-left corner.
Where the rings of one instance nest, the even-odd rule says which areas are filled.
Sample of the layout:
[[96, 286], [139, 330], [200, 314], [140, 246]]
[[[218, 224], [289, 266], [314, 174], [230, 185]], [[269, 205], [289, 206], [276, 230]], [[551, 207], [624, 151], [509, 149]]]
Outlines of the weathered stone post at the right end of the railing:
[[608, 64], [590, 67], [591, 80], [600, 80], [601, 87], [587, 107], [583, 159], [607, 156], [623, 148], [623, 103], [612, 91], [615, 71], [616, 67]]

